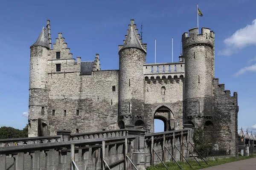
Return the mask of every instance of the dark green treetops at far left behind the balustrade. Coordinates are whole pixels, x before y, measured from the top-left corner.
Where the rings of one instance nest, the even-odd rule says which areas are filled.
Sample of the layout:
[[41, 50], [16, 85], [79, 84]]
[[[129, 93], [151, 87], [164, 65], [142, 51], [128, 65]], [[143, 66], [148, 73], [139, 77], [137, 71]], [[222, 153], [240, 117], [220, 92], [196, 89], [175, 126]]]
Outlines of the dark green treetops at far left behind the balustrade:
[[0, 139], [8, 138], [26, 138], [28, 137], [28, 124], [23, 130], [15, 129], [13, 127], [0, 127]]

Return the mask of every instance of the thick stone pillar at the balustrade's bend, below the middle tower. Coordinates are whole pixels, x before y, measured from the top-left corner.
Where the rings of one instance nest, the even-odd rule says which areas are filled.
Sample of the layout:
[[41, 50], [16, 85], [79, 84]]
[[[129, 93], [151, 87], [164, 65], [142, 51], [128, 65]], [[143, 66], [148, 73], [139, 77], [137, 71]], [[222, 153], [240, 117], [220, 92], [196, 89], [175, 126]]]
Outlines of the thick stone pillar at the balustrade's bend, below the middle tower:
[[137, 166], [138, 170], [145, 170], [145, 160], [146, 160], [146, 154], [145, 154], [145, 146], [144, 146], [144, 140], [145, 140], [145, 132], [144, 129], [128, 129], [128, 136], [136, 136], [134, 139], [134, 148], [133, 150], [133, 158], [132, 161]]

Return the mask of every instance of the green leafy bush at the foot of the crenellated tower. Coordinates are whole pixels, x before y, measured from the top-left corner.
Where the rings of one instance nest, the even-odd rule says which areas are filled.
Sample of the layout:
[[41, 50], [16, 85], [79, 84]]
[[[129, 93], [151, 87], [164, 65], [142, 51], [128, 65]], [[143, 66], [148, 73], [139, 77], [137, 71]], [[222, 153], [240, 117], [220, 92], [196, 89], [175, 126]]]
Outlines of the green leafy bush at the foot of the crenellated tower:
[[195, 125], [193, 129], [193, 142], [196, 150], [198, 150], [202, 156], [204, 156], [207, 151], [211, 150], [215, 143], [214, 133], [212, 132], [213, 127], [205, 128], [204, 126]]

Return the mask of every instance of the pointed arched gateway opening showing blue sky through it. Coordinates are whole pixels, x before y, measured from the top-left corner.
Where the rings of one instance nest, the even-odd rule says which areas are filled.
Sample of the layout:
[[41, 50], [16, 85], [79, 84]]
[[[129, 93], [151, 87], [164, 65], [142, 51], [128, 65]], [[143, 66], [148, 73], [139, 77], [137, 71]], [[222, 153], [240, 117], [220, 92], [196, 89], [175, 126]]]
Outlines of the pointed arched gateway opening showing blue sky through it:
[[[155, 127], [158, 127], [157, 129]], [[166, 106], [161, 106], [154, 113], [154, 130], [160, 132], [160, 128], [163, 129], [161, 131], [169, 131], [174, 130], [174, 116], [172, 111]], [[163, 127], [163, 128], [162, 128]]]

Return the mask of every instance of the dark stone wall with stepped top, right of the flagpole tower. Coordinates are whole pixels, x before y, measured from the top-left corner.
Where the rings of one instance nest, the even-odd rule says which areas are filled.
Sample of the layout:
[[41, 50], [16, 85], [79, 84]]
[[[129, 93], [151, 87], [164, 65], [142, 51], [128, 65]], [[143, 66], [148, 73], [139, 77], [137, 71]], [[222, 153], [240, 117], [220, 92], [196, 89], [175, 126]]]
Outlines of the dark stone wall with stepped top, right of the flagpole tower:
[[230, 91], [225, 91], [225, 85], [219, 84], [218, 79], [213, 79], [214, 95], [214, 129], [216, 142], [219, 147], [231, 150], [231, 155], [238, 152], [237, 92], [230, 96]]

